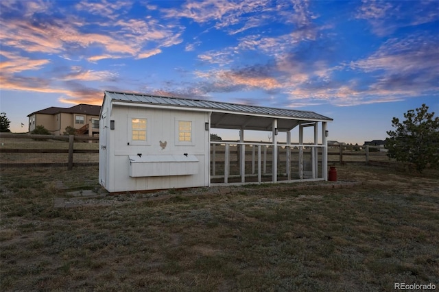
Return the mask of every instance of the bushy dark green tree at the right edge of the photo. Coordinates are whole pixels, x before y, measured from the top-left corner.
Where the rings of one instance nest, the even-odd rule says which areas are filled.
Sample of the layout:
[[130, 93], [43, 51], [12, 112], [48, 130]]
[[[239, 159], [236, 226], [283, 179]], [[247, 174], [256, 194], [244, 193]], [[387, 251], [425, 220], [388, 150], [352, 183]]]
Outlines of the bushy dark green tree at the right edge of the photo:
[[439, 167], [439, 117], [428, 112], [423, 104], [416, 110], [404, 114], [405, 121], [392, 119], [392, 127], [387, 131], [390, 138], [385, 140], [388, 156], [398, 161], [411, 162], [422, 172], [428, 165]]

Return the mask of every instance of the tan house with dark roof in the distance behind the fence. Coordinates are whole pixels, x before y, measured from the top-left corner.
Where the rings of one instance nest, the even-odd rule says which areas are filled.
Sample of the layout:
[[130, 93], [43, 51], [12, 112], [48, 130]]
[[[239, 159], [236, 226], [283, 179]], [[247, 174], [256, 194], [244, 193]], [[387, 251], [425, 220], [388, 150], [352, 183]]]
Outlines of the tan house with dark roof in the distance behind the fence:
[[71, 108], [57, 108], [51, 106], [44, 110], [38, 110], [28, 114], [29, 132], [37, 125], [43, 125], [54, 135], [62, 135], [66, 127], [74, 127], [76, 134], [95, 136], [99, 134], [100, 106], [90, 104], [78, 104]]

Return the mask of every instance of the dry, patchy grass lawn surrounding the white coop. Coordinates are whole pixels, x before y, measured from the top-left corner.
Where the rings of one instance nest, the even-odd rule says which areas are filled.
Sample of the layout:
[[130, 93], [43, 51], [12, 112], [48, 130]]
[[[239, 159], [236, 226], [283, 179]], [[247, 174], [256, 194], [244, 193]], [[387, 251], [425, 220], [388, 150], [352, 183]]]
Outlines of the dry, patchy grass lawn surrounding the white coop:
[[67, 197], [57, 181], [95, 188], [97, 167], [2, 169], [1, 291], [438, 289], [438, 171], [337, 172], [362, 184], [171, 190], [167, 199], [54, 208]]

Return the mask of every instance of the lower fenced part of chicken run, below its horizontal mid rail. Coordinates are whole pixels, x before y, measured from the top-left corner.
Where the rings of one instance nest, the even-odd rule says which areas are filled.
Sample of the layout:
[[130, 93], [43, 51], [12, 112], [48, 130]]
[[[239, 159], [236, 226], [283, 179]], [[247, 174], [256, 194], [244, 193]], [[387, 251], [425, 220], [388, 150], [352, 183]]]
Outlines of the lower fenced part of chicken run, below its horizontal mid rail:
[[211, 141], [211, 185], [326, 179], [321, 145], [301, 147], [280, 143], [277, 148], [274, 154], [274, 146], [269, 143]]

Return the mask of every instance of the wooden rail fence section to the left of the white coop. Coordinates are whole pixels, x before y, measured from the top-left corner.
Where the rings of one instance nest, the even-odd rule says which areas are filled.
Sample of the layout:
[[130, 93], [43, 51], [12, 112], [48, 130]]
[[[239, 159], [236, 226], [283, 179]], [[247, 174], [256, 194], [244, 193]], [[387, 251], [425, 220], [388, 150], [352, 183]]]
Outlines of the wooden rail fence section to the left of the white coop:
[[[67, 162], [38, 162], [38, 163], [8, 163], [0, 161], [0, 167], [66, 167], [71, 170], [73, 166], [89, 166], [97, 165], [97, 162], [75, 162], [73, 163], [73, 154], [99, 154], [99, 149], [74, 149], [75, 142], [99, 141], [99, 137], [92, 136], [53, 136], [53, 135], [32, 135], [32, 134], [12, 134], [12, 133], [0, 133], [1, 141], [8, 138], [31, 138], [36, 141], [55, 140], [55, 141], [68, 141], [69, 149], [29, 149], [29, 148], [7, 148], [0, 147], [1, 154], [68, 154]], [[4, 142], [1, 143], [3, 146]], [[23, 144], [24, 145], [24, 144]]]

